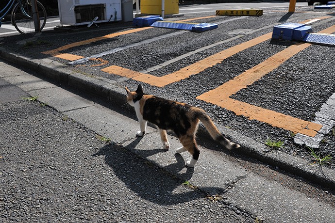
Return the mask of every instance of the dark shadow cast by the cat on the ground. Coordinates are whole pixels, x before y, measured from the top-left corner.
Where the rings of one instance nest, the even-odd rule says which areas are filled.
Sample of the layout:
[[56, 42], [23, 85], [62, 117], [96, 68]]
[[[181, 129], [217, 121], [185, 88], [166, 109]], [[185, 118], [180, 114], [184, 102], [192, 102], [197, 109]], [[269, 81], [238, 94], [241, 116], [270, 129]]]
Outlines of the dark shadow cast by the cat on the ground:
[[[133, 153], [130, 147], [134, 149], [140, 141], [141, 138], [135, 139], [134, 142], [127, 145], [128, 148], [108, 144], [93, 156], [104, 156], [106, 165], [113, 172], [112, 175], [123, 181], [127, 188], [134, 191], [140, 198], [150, 202], [159, 205], [174, 205], [207, 196], [201, 190], [192, 189], [190, 185], [187, 185], [194, 168], [186, 168], [185, 161], [180, 154], [175, 154], [177, 162], [162, 168], [147, 161], [142, 155]], [[146, 153], [144, 157], [149, 157], [165, 151], [152, 149], [140, 152]], [[171, 172], [173, 174], [170, 174]]]

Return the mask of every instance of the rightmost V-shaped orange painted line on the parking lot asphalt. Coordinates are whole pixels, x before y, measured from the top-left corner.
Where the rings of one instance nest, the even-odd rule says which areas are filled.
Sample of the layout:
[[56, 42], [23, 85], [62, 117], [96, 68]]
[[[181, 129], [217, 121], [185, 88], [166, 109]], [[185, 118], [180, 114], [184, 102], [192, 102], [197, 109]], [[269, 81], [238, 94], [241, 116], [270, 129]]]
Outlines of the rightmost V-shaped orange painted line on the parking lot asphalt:
[[[327, 28], [321, 32], [333, 33], [335, 32], [335, 26]], [[234, 79], [222, 84], [218, 88], [198, 96], [197, 99], [216, 104], [222, 108], [235, 112], [236, 115], [244, 115], [249, 119], [256, 119], [258, 121], [268, 123], [274, 127], [280, 127], [290, 130], [294, 133], [301, 133], [314, 137], [318, 130], [321, 129], [322, 125], [294, 118], [279, 112], [263, 109], [230, 98], [231, 95], [237, 93], [243, 88], [246, 88], [256, 80], [261, 79], [270, 71], [274, 70], [289, 58], [299, 53], [301, 50], [309, 47], [310, 45], [311, 44], [308, 43], [297, 43], [293, 46], [290, 46], [285, 50], [271, 56], [263, 63], [252, 67]]]

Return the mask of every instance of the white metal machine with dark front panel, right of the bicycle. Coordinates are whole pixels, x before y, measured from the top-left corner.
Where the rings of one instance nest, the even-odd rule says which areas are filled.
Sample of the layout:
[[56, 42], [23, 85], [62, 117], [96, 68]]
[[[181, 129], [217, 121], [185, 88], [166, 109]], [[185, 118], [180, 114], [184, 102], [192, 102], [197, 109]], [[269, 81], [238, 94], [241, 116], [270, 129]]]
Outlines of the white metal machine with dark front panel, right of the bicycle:
[[86, 25], [96, 17], [99, 22], [114, 22], [122, 19], [121, 0], [58, 0], [61, 24]]

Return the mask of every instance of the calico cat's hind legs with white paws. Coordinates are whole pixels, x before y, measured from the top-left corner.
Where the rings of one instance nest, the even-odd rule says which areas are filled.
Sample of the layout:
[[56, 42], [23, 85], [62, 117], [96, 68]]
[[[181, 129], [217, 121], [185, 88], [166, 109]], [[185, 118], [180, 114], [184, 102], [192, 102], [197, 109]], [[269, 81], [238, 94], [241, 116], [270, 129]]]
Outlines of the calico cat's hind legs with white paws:
[[192, 158], [186, 162], [186, 166], [194, 167], [200, 155], [200, 150], [194, 136], [182, 136], [179, 138], [179, 140], [183, 144], [183, 147], [179, 148], [179, 150], [181, 152], [187, 150], [192, 155]]

